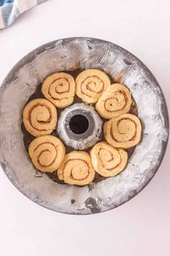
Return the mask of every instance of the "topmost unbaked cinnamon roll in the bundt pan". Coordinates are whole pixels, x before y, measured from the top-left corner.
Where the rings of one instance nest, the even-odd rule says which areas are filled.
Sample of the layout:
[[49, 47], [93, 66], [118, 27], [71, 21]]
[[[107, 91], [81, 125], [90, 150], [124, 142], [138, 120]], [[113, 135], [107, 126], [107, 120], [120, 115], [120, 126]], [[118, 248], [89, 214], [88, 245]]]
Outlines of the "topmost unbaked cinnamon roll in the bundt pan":
[[106, 73], [99, 69], [86, 69], [76, 77], [76, 95], [85, 103], [96, 103], [109, 85]]

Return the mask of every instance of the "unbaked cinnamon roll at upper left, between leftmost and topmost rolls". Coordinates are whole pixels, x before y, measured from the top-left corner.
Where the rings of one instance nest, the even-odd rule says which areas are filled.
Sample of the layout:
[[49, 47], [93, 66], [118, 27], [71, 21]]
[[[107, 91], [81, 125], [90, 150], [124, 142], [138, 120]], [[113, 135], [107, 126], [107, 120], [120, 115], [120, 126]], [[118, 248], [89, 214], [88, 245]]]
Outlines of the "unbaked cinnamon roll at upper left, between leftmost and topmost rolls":
[[75, 81], [71, 74], [58, 72], [51, 74], [42, 84], [45, 98], [58, 108], [66, 108], [73, 103]]

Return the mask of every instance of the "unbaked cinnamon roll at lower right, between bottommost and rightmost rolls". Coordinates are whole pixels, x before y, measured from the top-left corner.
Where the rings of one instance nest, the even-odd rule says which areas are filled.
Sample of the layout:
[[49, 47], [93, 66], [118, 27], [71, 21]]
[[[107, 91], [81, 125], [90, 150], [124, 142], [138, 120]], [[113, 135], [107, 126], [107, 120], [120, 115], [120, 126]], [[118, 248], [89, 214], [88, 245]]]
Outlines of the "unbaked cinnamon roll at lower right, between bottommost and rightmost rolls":
[[98, 142], [91, 149], [91, 162], [95, 171], [104, 177], [115, 176], [128, 161], [128, 153], [122, 148], [113, 148], [107, 142]]

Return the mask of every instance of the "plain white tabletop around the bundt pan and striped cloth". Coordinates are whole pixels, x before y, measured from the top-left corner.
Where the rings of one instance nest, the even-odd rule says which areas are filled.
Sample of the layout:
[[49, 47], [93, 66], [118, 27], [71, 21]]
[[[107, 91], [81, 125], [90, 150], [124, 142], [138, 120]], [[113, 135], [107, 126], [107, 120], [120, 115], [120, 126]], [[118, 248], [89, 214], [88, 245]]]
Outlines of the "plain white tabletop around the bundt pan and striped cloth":
[[[29, 1], [29, 0], [28, 0]], [[91, 36], [138, 56], [170, 110], [169, 0], [48, 0], [0, 30], [0, 83], [25, 54], [50, 40]], [[36, 205], [0, 171], [1, 256], [169, 256], [170, 146], [156, 176], [125, 205], [69, 216]]]

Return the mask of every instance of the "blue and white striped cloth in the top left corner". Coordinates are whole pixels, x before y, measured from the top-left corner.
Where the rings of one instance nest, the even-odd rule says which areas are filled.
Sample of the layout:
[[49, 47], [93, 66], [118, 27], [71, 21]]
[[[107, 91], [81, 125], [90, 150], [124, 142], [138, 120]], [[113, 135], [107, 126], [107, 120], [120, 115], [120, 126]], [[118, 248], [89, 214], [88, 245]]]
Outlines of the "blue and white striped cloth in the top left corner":
[[19, 14], [43, 1], [46, 0], [0, 0], [0, 29], [8, 27]]

